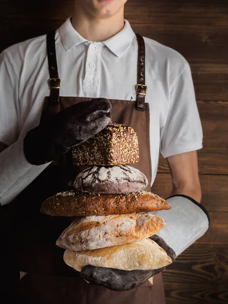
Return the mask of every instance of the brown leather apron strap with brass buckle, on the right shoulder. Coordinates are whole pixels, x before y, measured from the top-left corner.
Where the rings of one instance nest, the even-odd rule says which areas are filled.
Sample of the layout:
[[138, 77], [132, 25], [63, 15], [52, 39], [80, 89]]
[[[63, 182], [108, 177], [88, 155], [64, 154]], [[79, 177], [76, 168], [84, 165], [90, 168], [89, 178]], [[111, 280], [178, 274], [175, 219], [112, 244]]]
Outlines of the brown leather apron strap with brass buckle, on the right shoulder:
[[138, 42], [138, 75], [136, 85], [136, 109], [145, 110], [145, 96], [147, 87], [145, 85], [145, 43], [140, 34], [136, 34]]

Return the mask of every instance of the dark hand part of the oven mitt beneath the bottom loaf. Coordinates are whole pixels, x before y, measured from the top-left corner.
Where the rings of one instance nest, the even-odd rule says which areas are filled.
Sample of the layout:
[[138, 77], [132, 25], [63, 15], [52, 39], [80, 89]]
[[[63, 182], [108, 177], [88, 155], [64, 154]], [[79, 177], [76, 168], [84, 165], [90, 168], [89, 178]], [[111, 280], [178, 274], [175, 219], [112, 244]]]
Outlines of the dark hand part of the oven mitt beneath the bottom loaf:
[[[170, 248], [166, 242], [157, 235], [150, 237], [149, 239], [155, 241], [160, 247], [162, 247], [168, 256], [174, 260], [175, 252]], [[104, 267], [85, 266], [80, 276], [97, 285], [104, 286], [108, 289], [115, 291], [126, 291], [136, 287], [139, 287], [145, 283], [150, 277], [162, 272], [166, 267], [162, 267], [155, 270], [119, 270]]]

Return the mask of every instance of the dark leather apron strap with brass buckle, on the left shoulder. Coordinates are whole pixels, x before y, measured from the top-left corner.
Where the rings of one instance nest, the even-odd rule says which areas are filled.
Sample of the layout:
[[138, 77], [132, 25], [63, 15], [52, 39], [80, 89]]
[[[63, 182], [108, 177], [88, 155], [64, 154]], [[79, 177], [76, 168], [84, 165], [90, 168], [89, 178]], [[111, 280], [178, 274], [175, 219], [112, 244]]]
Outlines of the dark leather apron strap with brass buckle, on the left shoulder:
[[50, 86], [50, 102], [59, 103], [59, 89], [61, 80], [59, 79], [58, 66], [55, 49], [55, 30], [47, 34], [47, 53], [48, 53], [48, 68], [49, 68], [49, 86]]

